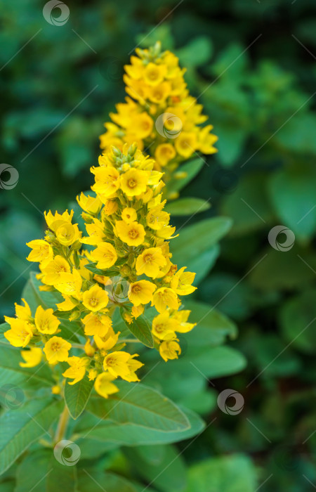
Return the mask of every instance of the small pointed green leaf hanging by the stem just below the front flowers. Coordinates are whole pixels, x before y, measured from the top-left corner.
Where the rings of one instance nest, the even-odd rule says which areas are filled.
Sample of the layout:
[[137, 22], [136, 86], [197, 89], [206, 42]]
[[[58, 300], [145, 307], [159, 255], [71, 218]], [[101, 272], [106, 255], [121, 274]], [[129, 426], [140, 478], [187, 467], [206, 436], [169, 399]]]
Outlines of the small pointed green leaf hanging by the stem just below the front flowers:
[[93, 381], [84, 377], [76, 384], [65, 384], [65, 403], [72, 418], [77, 419], [86, 408], [89, 396], [93, 388]]

